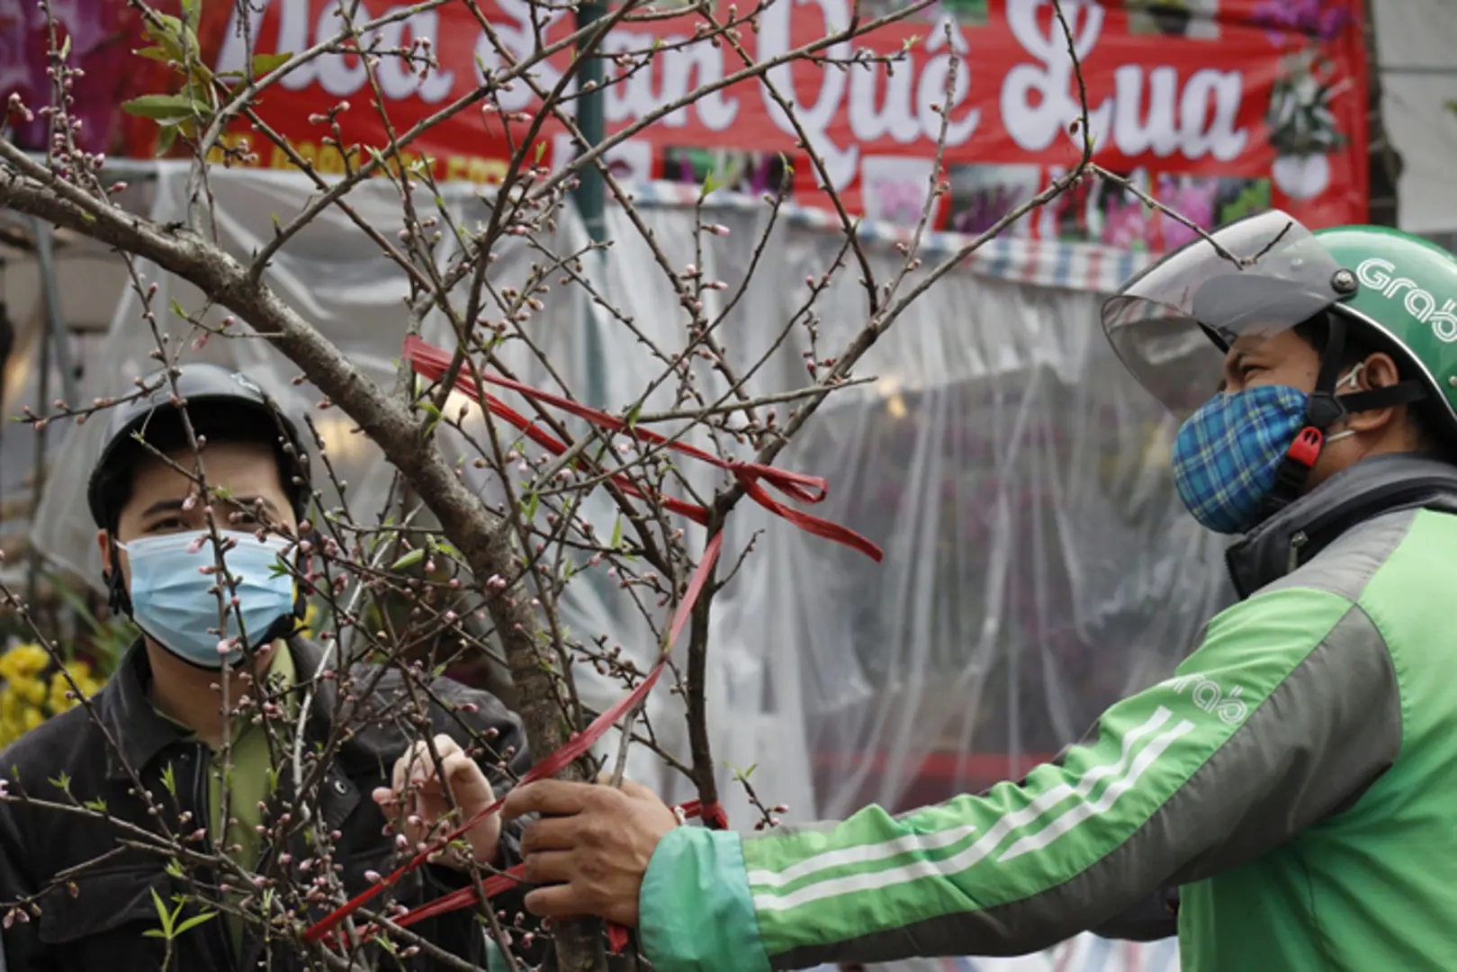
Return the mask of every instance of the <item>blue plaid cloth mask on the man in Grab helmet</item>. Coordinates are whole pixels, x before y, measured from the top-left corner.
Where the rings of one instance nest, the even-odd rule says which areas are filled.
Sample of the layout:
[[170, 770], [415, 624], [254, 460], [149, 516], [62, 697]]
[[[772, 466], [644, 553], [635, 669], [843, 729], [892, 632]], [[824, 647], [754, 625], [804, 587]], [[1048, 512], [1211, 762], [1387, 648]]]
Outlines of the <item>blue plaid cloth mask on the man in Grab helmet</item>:
[[1174, 485], [1193, 517], [1217, 533], [1244, 533], [1275, 490], [1285, 450], [1305, 427], [1305, 392], [1257, 385], [1215, 395], [1174, 439]]

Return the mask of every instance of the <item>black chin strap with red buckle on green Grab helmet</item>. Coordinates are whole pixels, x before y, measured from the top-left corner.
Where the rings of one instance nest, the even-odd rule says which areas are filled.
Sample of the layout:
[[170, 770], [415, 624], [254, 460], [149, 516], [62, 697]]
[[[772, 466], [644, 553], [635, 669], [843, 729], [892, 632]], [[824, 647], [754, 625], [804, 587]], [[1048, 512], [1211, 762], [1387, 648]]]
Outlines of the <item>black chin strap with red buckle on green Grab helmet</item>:
[[1310, 471], [1320, 459], [1320, 450], [1326, 443], [1338, 442], [1355, 434], [1354, 428], [1338, 431], [1327, 437], [1326, 430], [1354, 412], [1365, 412], [1377, 408], [1391, 408], [1393, 405], [1409, 405], [1426, 396], [1426, 388], [1418, 380], [1397, 382], [1386, 388], [1372, 388], [1367, 392], [1352, 392], [1336, 395], [1339, 385], [1354, 382], [1364, 367], [1364, 361], [1356, 364], [1346, 377], [1336, 380], [1340, 372], [1340, 353], [1346, 347], [1346, 322], [1335, 310], [1326, 312], [1330, 328], [1330, 338], [1320, 353], [1320, 375], [1316, 379], [1316, 391], [1310, 393], [1305, 404], [1305, 427], [1295, 436], [1295, 442], [1285, 450], [1285, 458], [1275, 471], [1275, 488], [1265, 497], [1260, 506], [1260, 519], [1265, 520], [1279, 513], [1294, 503], [1305, 491]]

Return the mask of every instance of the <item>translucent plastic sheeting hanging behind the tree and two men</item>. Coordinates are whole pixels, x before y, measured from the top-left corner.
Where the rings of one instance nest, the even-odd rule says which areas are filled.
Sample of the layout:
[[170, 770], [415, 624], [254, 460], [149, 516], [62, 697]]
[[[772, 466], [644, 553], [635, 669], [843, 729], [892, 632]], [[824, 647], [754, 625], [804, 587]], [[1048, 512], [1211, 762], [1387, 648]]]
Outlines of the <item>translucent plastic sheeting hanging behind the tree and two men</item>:
[[[287, 223], [309, 198], [302, 181], [264, 172], [214, 172], [211, 189], [219, 236], [239, 255], [271, 236], [272, 216]], [[485, 214], [468, 188], [453, 192], [446, 205], [455, 219]], [[185, 219], [184, 198], [185, 173], [162, 166], [153, 219]], [[361, 187], [351, 203], [382, 232], [399, 229], [398, 197], [388, 185]], [[675, 270], [695, 262], [728, 284], [708, 294], [718, 302], [711, 312], [755, 267], [753, 286], [718, 329], [739, 373], [753, 369], [750, 393], [809, 382], [807, 329], [782, 342], [779, 335], [806, 299], [806, 277], [835, 264], [839, 238], [781, 222], [761, 245], [766, 205], [710, 207], [705, 220], [731, 232], [705, 235], [701, 248], [691, 208], [643, 208], [638, 219]], [[610, 208], [608, 220], [613, 246], [605, 258], [584, 258], [584, 274], [631, 328], [580, 289], [554, 286], [530, 334], [574, 395], [621, 409], [661, 373], [653, 348], [683, 347], [683, 315], [628, 216]], [[559, 220], [543, 245], [558, 254], [583, 246], [580, 223]], [[530, 261], [541, 259], [513, 240], [492, 265], [492, 283], [519, 286]], [[870, 251], [883, 281], [902, 259], [892, 248]], [[146, 273], [159, 284], [159, 315], [173, 297], [189, 310], [201, 306], [191, 287]], [[838, 353], [865, 322], [858, 275], [851, 259], [819, 302], [817, 357]], [[408, 289], [342, 214], [329, 210], [286, 246], [270, 284], [373, 380], [396, 379], [392, 360]], [[102, 354], [111, 369], [87, 376], [87, 398], [124, 388], [149, 367], [153, 344], [137, 297], [118, 294], [118, 302]], [[1220, 544], [1183, 513], [1173, 488], [1173, 423], [1106, 345], [1097, 305], [1093, 293], [953, 271], [857, 369], [877, 380], [836, 392], [777, 459], [826, 477], [830, 497], [814, 512], [884, 546], [884, 564], [807, 536], [752, 503], [728, 517], [733, 555], [758, 539], [714, 606], [714, 755], [721, 767], [755, 767], [753, 785], [766, 801], [790, 804], [788, 820], [845, 816], [870, 801], [908, 809], [1021, 775], [1075, 740], [1107, 704], [1166, 676], [1227, 600]], [[589, 356], [589, 328], [603, 348], [597, 360]], [[173, 341], [182, 331], [176, 322], [163, 329], [175, 332]], [[424, 335], [449, 344], [440, 321], [427, 321]], [[256, 340], [214, 338], [184, 354], [201, 357], [246, 367], [286, 407], [310, 414], [348, 479], [356, 516], [377, 513], [388, 466], [369, 442], [348, 434], [351, 423], [338, 409], [315, 408], [316, 391], [290, 383], [296, 367]], [[558, 391], [525, 345], [508, 345], [507, 357], [522, 380]], [[724, 392], [707, 367], [695, 372], [710, 399]], [[672, 407], [670, 391], [660, 389], [645, 411]], [[778, 408], [781, 421], [787, 408]], [[90, 577], [101, 564], [82, 487], [99, 426], [66, 440], [36, 525], [50, 555]], [[712, 444], [702, 430], [689, 442]], [[730, 447], [750, 455], [747, 446]], [[680, 465], [701, 491], [723, 482], [717, 471]], [[475, 485], [488, 488], [481, 479]], [[609, 535], [615, 514], [602, 491], [587, 512]], [[701, 545], [702, 530], [685, 528]], [[643, 662], [656, 650], [653, 630], [600, 573], [586, 571], [571, 584], [564, 614], [574, 632], [606, 634]], [[624, 691], [590, 669], [578, 673], [578, 685], [589, 705]], [[660, 742], [686, 758], [680, 701], [657, 692], [648, 714]], [[616, 742], [605, 745], [610, 752]], [[629, 761], [629, 775], [669, 800], [692, 796], [645, 750]], [[755, 816], [728, 769], [720, 785], [731, 820], [747, 829]], [[1067, 955], [1078, 943], [1065, 946]], [[1100, 968], [1136, 968], [1097, 955]]]

